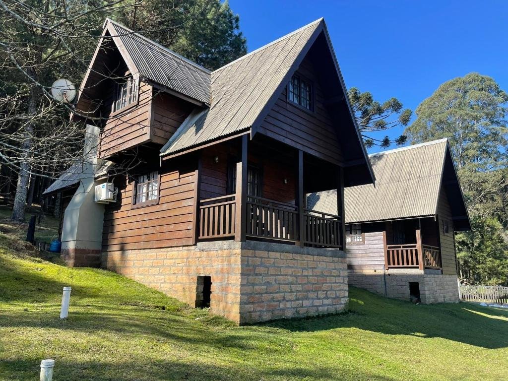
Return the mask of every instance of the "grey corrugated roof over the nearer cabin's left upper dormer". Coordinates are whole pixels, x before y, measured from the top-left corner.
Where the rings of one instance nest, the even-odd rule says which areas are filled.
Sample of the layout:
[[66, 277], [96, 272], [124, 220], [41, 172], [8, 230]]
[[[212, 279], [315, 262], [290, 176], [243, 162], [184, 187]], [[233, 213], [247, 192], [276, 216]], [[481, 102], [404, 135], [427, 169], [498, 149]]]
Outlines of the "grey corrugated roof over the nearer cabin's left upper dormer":
[[141, 77], [210, 104], [210, 71], [110, 19], [113, 40], [121, 41]]

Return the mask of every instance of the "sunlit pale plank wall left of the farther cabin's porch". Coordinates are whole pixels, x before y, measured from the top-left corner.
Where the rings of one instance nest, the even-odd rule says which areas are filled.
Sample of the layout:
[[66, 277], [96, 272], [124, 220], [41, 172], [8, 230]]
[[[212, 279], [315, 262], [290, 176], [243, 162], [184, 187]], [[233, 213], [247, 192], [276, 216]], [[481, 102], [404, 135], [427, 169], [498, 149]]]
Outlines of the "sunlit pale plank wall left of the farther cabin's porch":
[[383, 270], [385, 267], [383, 232], [365, 233], [365, 243], [363, 244], [346, 243], [346, 255], [347, 267], [350, 269]]

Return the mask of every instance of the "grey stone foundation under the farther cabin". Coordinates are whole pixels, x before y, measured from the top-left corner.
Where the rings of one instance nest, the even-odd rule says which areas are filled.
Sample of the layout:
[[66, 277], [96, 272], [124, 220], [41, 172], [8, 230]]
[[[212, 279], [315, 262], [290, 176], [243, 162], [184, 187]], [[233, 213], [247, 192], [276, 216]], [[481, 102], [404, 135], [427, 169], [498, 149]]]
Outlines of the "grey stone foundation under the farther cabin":
[[[410, 300], [409, 282], [418, 282], [422, 303], [456, 303], [459, 289], [456, 275], [428, 274], [418, 270], [348, 270], [348, 284], [389, 298]], [[386, 286], [385, 286], [386, 284]]]

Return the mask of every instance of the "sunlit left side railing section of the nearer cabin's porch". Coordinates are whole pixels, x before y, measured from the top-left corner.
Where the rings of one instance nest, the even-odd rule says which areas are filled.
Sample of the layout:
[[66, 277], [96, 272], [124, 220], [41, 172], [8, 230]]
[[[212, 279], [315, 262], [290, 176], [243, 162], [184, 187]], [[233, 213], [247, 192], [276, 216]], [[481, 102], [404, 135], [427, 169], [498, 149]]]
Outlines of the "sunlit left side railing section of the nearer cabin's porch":
[[199, 202], [200, 239], [235, 236], [235, 195], [214, 197]]

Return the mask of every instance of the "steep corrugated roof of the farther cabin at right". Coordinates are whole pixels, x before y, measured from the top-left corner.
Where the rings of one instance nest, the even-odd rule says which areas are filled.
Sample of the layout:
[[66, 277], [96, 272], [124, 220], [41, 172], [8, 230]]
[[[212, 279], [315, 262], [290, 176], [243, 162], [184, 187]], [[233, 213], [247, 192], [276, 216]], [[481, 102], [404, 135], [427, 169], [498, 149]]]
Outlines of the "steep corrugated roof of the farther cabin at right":
[[[369, 155], [376, 186], [344, 189], [346, 223], [436, 214], [447, 140]], [[311, 194], [309, 208], [335, 214], [335, 191]]]

